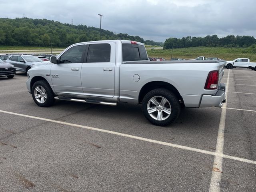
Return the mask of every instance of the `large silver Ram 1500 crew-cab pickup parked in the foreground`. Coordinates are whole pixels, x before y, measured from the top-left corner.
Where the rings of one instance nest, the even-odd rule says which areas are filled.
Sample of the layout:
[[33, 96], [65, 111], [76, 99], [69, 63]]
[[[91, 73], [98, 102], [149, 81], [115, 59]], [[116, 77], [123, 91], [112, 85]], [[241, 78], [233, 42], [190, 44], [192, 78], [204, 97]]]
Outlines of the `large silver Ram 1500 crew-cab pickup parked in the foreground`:
[[128, 40], [82, 42], [34, 65], [26, 85], [38, 106], [51, 106], [55, 100], [136, 103], [152, 124], [166, 126], [178, 118], [182, 106], [222, 106], [224, 64], [148, 61], [144, 44]]

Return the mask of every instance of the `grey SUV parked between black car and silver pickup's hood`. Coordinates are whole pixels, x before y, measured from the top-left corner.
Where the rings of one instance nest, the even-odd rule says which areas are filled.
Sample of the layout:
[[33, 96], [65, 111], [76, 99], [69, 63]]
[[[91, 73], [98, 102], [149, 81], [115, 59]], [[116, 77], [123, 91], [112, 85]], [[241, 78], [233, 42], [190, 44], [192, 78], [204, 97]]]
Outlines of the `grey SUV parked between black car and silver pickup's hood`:
[[10, 63], [16, 67], [16, 72], [25, 72], [34, 65], [38, 63], [42, 63], [43, 61], [32, 55], [15, 55], [11, 56], [6, 60], [6, 63]]

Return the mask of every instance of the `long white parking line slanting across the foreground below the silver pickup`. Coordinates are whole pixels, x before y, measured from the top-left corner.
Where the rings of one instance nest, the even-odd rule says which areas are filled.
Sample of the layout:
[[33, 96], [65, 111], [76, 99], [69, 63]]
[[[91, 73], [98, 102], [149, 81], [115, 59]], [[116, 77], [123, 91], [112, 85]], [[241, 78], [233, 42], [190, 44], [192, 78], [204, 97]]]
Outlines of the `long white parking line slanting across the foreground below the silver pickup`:
[[78, 124], [72, 124], [72, 123], [68, 123], [68, 122], [62, 122], [62, 121], [46, 119], [46, 118], [41, 118], [41, 117], [36, 117], [36, 116], [24, 115], [24, 114], [19, 114], [19, 113], [4, 111], [4, 110], [0, 110], [0, 112], [5, 113], [5, 114], [12, 114], [12, 115], [16, 115], [16, 116], [22, 116], [22, 117], [26, 117], [26, 118], [43, 120], [43, 121], [57, 123], [57, 124], [63, 124], [63, 125], [68, 125], [68, 126], [73, 126], [73, 127], [84, 128], [84, 129], [88, 129], [88, 130], [94, 130], [94, 131], [98, 131], [98, 132], [104, 132], [104, 133], [108, 133], [108, 134], [114, 134], [114, 135], [118, 135], [118, 136], [133, 138], [133, 139], [136, 139], [136, 140], [142, 140], [142, 141], [151, 142], [151, 143], [155, 143], [155, 144], [170, 146], [170, 147], [173, 147], [173, 148], [179, 148], [179, 149], [182, 149], [182, 150], [189, 150], [189, 151], [192, 151], [192, 152], [198, 152], [198, 153], [202, 153], [202, 154], [218, 156], [218, 157], [221, 157], [221, 158], [228, 158], [228, 159], [232, 159], [232, 160], [246, 162], [246, 163], [250, 163], [250, 164], [255, 164], [256, 165], [256, 161], [254, 161], [254, 160], [239, 158], [239, 157], [235, 157], [235, 156], [229, 156], [229, 155], [220, 154], [220, 153], [217, 153], [217, 152], [212, 152], [212, 151], [192, 148], [192, 147], [188, 147], [188, 146], [183, 146], [183, 145], [177, 145], [177, 144], [162, 142], [162, 141], [158, 141], [158, 140], [152, 140], [152, 139], [148, 139], [148, 138], [133, 136], [133, 135], [129, 135], [129, 134], [123, 134], [123, 133], [119, 133], [119, 132], [114, 132], [114, 131], [94, 128], [94, 127], [88, 127], [88, 126], [83, 126], [83, 125], [78, 125]]

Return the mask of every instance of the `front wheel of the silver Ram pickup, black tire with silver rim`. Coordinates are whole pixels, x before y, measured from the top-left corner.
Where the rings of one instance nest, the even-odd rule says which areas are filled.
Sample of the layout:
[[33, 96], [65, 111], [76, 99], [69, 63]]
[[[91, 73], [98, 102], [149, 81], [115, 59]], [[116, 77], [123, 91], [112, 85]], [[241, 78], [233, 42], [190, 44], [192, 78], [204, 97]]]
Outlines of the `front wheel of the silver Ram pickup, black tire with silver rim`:
[[[44, 80], [35, 82], [32, 86], [31, 93], [32, 93], [34, 102], [40, 107], [49, 107], [49, 106], [52, 106], [55, 102], [52, 88], [50, 87], [48, 82]], [[38, 96], [38, 98], [36, 98], [36, 96]], [[41, 102], [39, 100], [41, 100]]]

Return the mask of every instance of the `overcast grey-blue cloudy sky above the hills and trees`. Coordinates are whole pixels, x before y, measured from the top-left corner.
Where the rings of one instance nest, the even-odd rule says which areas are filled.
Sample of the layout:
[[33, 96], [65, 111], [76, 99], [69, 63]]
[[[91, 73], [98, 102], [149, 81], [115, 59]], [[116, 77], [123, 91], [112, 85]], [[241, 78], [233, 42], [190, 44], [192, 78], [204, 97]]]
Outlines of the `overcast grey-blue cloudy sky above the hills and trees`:
[[[255, 0], [0, 0], [0, 18], [46, 18], [144, 40], [229, 34], [256, 37]], [[6, 8], [6, 9], [3, 9]]]

